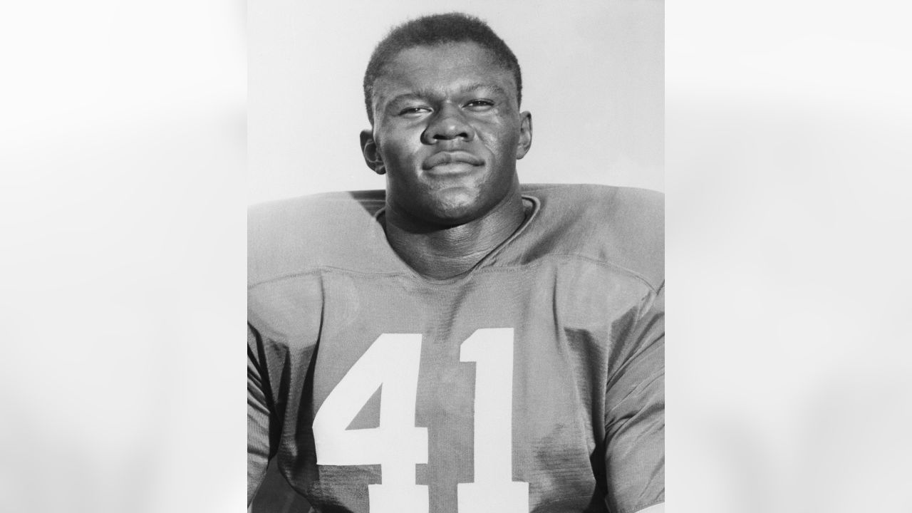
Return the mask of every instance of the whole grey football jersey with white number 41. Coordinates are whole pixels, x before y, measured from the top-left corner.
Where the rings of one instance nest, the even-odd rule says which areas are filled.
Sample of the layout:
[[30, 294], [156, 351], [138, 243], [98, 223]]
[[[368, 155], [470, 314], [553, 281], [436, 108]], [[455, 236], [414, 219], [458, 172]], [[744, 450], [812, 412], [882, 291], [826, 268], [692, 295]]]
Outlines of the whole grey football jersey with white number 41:
[[523, 224], [442, 280], [390, 248], [384, 202], [251, 209], [248, 502], [273, 457], [316, 511], [663, 502], [662, 195], [523, 185]]

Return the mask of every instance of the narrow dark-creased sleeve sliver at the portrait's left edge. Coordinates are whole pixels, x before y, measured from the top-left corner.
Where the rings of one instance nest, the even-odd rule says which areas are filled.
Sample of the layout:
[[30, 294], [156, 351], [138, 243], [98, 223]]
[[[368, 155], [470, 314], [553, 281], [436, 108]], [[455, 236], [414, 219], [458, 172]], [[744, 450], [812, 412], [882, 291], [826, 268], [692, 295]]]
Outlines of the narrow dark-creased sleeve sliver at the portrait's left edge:
[[256, 332], [247, 326], [247, 505], [263, 482], [269, 458], [275, 454], [270, 437], [265, 366]]

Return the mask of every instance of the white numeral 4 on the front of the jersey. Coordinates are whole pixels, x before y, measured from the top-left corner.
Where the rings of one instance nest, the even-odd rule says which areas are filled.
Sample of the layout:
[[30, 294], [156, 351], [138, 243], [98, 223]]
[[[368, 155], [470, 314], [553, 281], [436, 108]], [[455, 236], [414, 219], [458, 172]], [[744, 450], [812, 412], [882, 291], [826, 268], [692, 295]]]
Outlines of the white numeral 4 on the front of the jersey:
[[[415, 427], [420, 358], [420, 335], [380, 335], [314, 417], [317, 464], [380, 465], [371, 513], [428, 512], [428, 487], [415, 484], [415, 465], [428, 463], [428, 428]], [[347, 430], [381, 385], [379, 427]]]

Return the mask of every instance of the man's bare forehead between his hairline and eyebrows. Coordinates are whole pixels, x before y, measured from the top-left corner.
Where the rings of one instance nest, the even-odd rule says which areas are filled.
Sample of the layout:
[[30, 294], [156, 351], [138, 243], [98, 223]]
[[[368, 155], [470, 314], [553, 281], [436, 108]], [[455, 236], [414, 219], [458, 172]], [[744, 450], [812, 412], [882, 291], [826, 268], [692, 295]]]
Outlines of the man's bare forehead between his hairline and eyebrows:
[[383, 67], [375, 82], [375, 99], [411, 90], [459, 89], [467, 84], [490, 84], [515, 96], [513, 73], [491, 50], [473, 42], [410, 47], [399, 51]]

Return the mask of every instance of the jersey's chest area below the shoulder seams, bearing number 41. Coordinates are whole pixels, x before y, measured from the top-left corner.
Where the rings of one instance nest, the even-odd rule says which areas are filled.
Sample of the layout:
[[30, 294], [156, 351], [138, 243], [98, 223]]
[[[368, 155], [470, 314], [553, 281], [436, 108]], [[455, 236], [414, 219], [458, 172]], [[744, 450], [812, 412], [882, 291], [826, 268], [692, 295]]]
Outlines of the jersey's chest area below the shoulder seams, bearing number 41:
[[451, 288], [325, 278], [309, 495], [372, 513], [582, 510], [630, 299], [539, 271]]

